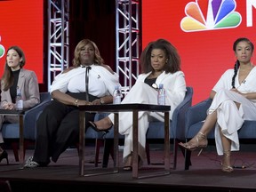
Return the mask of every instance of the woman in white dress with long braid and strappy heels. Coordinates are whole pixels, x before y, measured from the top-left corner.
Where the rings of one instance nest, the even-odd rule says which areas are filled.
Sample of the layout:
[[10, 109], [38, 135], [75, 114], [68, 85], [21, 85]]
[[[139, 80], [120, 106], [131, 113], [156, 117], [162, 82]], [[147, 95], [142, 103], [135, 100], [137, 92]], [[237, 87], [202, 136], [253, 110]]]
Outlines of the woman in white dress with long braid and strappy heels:
[[236, 39], [233, 50], [237, 59], [235, 67], [228, 69], [213, 87], [212, 105], [201, 130], [192, 140], [180, 143], [189, 150], [206, 148], [207, 134], [215, 127], [217, 153], [223, 156], [223, 172], [233, 172], [230, 155], [231, 151], [239, 150], [237, 131], [244, 120], [256, 120], [256, 68], [251, 61], [254, 45], [241, 37]]

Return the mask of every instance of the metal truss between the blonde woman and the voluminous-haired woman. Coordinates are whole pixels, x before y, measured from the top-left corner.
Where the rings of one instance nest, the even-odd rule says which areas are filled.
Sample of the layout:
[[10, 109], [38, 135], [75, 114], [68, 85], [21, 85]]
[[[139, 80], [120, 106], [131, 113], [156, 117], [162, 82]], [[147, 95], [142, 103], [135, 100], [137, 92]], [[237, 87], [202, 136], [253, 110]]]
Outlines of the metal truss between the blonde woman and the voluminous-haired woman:
[[116, 0], [116, 73], [123, 92], [139, 76], [139, 0]]

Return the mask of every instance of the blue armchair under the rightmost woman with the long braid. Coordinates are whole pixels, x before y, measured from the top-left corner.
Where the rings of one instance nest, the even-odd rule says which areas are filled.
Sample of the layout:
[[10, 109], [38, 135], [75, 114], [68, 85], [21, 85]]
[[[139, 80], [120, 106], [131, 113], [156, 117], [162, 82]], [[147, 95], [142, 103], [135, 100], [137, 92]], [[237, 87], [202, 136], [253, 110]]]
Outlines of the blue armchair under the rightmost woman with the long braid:
[[[188, 108], [185, 119], [186, 127], [186, 141], [192, 139], [204, 124], [207, 116], [206, 111], [212, 104], [211, 99], [203, 100], [196, 105]], [[241, 140], [255, 139], [256, 138], [256, 121], [244, 121], [242, 128], [239, 130], [238, 135]], [[214, 139], [214, 128], [207, 135], [208, 140]], [[185, 170], [189, 169], [191, 164], [191, 151], [185, 150]]]

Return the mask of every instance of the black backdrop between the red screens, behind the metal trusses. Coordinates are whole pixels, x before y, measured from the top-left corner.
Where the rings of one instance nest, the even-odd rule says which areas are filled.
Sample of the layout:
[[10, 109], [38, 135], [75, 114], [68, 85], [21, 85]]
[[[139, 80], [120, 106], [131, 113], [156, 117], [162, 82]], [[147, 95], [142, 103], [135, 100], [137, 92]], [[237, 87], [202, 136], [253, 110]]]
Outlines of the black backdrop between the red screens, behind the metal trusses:
[[[69, 66], [72, 66], [76, 44], [84, 38], [98, 45], [105, 64], [116, 71], [116, 0], [70, 0]], [[40, 92], [47, 92], [47, 1], [44, 1], [44, 84]]]

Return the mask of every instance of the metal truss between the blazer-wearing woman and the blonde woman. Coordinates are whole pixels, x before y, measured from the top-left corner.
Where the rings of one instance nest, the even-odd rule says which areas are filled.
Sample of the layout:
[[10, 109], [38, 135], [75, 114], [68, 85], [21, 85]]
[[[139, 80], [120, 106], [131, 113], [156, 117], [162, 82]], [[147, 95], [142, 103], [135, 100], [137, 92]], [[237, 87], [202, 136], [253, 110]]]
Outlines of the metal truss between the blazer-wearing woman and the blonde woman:
[[48, 0], [48, 90], [56, 75], [68, 68], [69, 0]]

